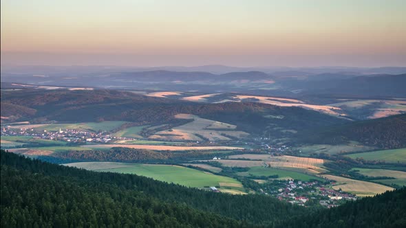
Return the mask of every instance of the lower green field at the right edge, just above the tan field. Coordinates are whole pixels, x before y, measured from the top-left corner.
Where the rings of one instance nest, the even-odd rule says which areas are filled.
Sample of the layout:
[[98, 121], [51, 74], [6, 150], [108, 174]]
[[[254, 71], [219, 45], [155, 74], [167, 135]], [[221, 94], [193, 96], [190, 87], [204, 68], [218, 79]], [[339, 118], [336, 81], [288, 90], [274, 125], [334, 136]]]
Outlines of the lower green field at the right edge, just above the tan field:
[[384, 170], [384, 169], [365, 169], [365, 168], [352, 168], [352, 170], [358, 170], [360, 174], [364, 176], [389, 176], [396, 179], [379, 179], [374, 180], [383, 184], [396, 184], [396, 185], [406, 185], [406, 172], [396, 171], [396, 170]]

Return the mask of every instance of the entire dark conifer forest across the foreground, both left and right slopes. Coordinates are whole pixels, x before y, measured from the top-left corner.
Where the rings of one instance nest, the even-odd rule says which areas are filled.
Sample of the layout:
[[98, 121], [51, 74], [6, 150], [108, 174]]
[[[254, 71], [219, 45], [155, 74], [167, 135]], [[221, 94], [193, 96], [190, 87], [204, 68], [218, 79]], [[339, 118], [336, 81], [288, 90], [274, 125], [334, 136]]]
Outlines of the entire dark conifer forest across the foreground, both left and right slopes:
[[402, 227], [406, 190], [311, 211], [0, 152], [1, 227]]

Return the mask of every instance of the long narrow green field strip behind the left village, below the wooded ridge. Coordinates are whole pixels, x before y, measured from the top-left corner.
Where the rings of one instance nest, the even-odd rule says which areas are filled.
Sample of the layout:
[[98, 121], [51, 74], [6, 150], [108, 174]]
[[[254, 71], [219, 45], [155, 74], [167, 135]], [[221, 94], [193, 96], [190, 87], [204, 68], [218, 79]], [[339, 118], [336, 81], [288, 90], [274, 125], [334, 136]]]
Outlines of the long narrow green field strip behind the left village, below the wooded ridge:
[[125, 121], [104, 121], [104, 122], [85, 122], [85, 123], [74, 123], [74, 124], [26, 124], [26, 125], [12, 125], [10, 128], [23, 128], [23, 129], [34, 129], [34, 130], [47, 130], [47, 131], [58, 131], [66, 129], [75, 130], [91, 130], [94, 132], [100, 131], [111, 131], [122, 124]]

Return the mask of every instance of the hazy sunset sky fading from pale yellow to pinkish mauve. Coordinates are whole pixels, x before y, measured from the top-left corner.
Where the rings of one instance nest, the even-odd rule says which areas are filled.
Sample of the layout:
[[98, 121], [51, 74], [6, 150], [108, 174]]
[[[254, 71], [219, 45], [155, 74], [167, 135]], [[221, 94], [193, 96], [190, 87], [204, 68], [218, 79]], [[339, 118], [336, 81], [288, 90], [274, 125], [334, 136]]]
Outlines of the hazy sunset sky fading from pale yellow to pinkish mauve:
[[1, 0], [1, 65], [406, 66], [405, 0]]

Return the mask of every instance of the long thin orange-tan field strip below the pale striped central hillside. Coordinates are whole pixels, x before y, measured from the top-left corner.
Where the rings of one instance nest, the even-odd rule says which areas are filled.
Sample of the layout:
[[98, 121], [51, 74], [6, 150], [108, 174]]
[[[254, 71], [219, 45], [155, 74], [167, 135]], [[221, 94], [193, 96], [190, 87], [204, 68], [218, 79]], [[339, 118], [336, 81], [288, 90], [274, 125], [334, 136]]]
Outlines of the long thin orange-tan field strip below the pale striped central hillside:
[[242, 149], [240, 147], [231, 146], [162, 146], [162, 145], [133, 145], [133, 144], [95, 144], [84, 145], [86, 148], [113, 148], [125, 147], [133, 149], [146, 149], [146, 150], [236, 150]]

